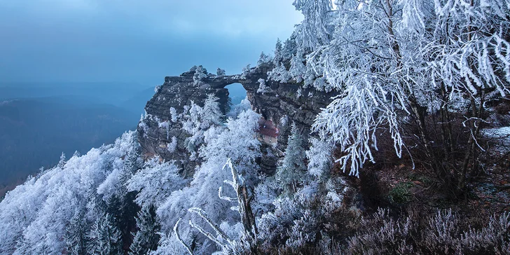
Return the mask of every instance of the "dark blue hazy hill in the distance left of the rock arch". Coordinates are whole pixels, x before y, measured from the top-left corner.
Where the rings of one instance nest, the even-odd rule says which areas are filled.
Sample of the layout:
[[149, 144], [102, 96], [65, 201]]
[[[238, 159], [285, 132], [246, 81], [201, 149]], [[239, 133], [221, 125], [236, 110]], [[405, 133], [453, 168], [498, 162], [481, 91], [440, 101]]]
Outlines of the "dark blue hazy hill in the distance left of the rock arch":
[[111, 143], [138, 119], [139, 113], [90, 97], [0, 101], [0, 197], [6, 186], [55, 165], [60, 153], [70, 157]]

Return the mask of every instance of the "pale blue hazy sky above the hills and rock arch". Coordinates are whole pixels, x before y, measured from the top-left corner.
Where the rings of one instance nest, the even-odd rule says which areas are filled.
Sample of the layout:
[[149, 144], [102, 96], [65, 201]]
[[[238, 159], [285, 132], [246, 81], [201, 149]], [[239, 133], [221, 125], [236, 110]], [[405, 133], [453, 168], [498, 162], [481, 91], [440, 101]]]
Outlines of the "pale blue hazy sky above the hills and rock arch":
[[239, 73], [301, 18], [292, 0], [0, 0], [0, 83]]

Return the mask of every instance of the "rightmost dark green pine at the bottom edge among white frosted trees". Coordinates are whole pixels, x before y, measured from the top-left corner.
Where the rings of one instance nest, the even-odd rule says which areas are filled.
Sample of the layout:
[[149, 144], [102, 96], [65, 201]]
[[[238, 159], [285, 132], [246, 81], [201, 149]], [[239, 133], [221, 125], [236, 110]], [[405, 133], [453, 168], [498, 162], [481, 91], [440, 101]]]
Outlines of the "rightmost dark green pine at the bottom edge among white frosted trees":
[[131, 255], [147, 254], [158, 248], [160, 225], [153, 205], [143, 207], [137, 216], [138, 231], [130, 247]]

